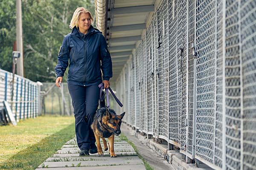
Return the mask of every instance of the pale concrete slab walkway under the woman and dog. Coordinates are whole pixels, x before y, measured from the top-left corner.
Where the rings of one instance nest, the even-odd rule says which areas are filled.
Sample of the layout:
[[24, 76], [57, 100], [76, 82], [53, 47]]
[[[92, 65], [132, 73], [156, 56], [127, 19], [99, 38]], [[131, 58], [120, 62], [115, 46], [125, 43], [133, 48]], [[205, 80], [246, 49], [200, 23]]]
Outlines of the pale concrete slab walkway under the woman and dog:
[[115, 136], [114, 148], [116, 158], [111, 158], [108, 151], [104, 151], [104, 156], [98, 153], [79, 156], [76, 139], [71, 139], [36, 170], [145, 170], [143, 161], [128, 142]]

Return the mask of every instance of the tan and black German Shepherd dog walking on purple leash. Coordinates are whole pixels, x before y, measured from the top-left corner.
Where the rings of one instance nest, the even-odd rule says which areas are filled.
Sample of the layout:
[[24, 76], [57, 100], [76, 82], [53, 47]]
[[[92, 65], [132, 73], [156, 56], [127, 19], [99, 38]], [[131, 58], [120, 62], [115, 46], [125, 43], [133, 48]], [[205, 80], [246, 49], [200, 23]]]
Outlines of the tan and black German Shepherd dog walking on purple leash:
[[[106, 151], [109, 149], [110, 156], [116, 157], [114, 152], [114, 136], [118, 136], [121, 133], [120, 126], [124, 115], [125, 112], [120, 115], [116, 115], [115, 111], [112, 109], [108, 110], [106, 108], [100, 108], [97, 110], [91, 127], [96, 138], [99, 156], [103, 155], [99, 139], [101, 138], [104, 150]], [[108, 138], [108, 146], [105, 138]]]

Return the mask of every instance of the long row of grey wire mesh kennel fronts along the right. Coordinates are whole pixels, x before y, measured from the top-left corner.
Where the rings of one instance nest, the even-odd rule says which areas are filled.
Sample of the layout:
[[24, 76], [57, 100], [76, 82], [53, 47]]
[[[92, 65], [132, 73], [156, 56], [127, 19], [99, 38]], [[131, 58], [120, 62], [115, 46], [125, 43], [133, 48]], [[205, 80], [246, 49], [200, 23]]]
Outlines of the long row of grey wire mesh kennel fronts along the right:
[[116, 111], [210, 167], [256, 169], [255, 14], [254, 0], [163, 0], [116, 81]]

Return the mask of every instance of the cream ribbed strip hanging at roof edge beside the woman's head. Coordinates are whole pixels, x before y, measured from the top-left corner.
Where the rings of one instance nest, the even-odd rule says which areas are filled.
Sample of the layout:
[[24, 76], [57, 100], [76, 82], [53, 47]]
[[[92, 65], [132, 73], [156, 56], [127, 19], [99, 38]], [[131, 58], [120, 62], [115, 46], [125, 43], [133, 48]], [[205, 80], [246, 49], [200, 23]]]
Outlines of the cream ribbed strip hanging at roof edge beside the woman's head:
[[108, 0], [94, 0], [95, 14], [96, 14], [96, 26], [102, 31], [104, 37], [106, 37], [106, 23], [107, 23], [107, 10]]

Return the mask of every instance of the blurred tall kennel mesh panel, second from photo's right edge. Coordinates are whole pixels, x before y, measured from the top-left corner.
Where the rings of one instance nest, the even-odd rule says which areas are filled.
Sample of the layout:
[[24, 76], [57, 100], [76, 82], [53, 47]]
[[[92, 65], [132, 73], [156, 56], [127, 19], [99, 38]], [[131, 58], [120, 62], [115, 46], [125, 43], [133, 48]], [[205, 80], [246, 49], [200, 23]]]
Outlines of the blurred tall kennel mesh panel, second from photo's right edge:
[[241, 74], [239, 47], [239, 3], [226, 3], [226, 167], [240, 169], [241, 159]]

